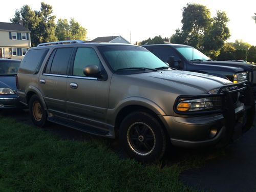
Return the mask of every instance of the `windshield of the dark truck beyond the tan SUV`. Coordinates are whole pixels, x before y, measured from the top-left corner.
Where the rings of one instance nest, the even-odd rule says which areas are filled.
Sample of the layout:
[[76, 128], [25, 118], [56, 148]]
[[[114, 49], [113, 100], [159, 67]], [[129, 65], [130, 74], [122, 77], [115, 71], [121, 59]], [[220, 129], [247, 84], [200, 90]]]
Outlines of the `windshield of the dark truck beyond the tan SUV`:
[[207, 57], [202, 52], [198, 51], [197, 49], [193, 47], [178, 47], [177, 51], [180, 52], [180, 54], [183, 55], [187, 60], [210, 60], [209, 57]]

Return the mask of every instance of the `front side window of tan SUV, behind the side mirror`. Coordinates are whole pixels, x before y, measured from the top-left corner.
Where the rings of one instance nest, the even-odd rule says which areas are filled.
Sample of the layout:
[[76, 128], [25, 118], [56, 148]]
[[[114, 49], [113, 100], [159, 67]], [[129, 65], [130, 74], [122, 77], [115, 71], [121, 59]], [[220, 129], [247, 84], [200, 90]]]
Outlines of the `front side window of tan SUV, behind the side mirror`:
[[76, 51], [74, 60], [73, 75], [85, 76], [83, 69], [87, 66], [98, 66], [100, 69], [101, 62], [94, 49], [88, 47], [80, 47]]

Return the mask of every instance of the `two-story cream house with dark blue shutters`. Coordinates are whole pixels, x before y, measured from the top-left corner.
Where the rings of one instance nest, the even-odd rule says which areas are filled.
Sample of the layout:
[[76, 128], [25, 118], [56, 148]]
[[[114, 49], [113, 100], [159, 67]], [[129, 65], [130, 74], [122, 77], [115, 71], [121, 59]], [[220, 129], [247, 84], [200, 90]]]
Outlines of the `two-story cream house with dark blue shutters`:
[[0, 58], [22, 59], [30, 47], [30, 31], [23, 22], [0, 22]]

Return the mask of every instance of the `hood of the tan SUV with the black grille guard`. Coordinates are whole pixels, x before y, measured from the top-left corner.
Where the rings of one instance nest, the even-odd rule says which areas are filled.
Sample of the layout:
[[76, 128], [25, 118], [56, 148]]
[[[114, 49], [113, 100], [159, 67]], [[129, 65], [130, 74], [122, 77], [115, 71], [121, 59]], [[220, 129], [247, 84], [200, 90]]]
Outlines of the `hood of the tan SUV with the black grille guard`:
[[150, 81], [152, 87], [167, 86], [167, 89], [171, 90], [171, 92], [183, 95], [207, 94], [211, 90], [226, 84], [232, 84], [231, 81], [220, 77], [178, 70], [140, 73], [130, 76], [140, 78], [140, 81]]

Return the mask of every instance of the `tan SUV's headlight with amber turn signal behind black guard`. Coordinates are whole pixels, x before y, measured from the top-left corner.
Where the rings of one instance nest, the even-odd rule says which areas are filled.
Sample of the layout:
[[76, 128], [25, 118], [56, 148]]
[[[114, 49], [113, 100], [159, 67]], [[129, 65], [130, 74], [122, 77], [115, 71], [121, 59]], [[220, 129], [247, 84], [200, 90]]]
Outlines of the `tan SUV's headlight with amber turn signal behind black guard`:
[[178, 111], [200, 111], [212, 108], [212, 102], [209, 98], [181, 100], [178, 102]]

